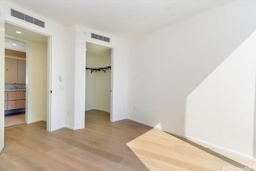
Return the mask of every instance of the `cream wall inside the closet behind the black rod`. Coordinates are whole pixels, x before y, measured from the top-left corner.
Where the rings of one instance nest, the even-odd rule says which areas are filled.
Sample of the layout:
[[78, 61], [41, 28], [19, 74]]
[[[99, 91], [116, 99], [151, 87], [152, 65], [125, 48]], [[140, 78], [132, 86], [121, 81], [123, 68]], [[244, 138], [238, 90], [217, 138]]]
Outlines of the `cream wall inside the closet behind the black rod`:
[[[88, 51], [86, 51], [88, 52]], [[111, 65], [111, 49], [109, 53], [103, 56], [86, 54], [86, 66], [98, 68]], [[92, 72], [86, 71], [86, 93], [85, 93], [85, 111], [98, 109], [110, 112], [110, 87], [111, 70]]]

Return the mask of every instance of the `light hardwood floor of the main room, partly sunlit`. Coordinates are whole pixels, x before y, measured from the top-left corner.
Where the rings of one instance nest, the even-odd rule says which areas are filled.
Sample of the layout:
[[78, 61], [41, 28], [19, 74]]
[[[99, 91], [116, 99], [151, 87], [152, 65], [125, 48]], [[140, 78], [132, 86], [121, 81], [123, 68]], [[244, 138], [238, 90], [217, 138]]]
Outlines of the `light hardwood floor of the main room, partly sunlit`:
[[223, 171], [226, 167], [256, 167], [255, 162], [128, 119], [112, 123], [104, 111], [87, 111], [85, 116], [85, 128], [75, 131], [47, 132], [42, 121], [5, 129], [0, 170]]

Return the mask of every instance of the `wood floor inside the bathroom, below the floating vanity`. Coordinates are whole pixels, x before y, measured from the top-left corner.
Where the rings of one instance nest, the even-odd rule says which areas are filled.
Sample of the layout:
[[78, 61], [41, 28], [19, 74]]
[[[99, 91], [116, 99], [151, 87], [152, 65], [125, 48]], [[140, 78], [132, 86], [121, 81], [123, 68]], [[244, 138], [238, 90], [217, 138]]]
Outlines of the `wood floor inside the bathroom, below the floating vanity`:
[[4, 115], [4, 128], [25, 124], [25, 112]]

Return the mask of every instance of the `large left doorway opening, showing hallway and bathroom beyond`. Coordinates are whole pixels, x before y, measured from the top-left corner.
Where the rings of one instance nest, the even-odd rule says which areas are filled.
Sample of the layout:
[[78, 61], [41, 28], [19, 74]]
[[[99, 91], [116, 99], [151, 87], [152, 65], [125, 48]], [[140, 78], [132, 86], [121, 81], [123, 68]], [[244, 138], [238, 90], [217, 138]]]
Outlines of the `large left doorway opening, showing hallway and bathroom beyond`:
[[[47, 103], [50, 98], [47, 93], [50, 75], [48, 38], [26, 28], [5, 23], [5, 43], [11, 43], [5, 49], [5, 81], [9, 80], [5, 82], [5, 128], [47, 121]], [[24, 59], [15, 59], [20, 53], [17, 47], [24, 48]], [[11, 50], [12, 53], [8, 56]], [[14, 60], [17, 61], [16, 64]], [[18, 69], [9, 68], [10, 64]], [[8, 74], [11, 70], [14, 71]], [[13, 73], [16, 73], [17, 81], [12, 80]]]

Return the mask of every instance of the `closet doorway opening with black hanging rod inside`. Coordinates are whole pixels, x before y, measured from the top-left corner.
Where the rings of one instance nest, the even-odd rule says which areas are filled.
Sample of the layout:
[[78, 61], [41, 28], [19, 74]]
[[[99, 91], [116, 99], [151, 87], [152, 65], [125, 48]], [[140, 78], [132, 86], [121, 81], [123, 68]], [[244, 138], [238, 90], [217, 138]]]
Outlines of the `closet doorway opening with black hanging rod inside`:
[[85, 115], [103, 114], [110, 120], [111, 53], [112, 48], [86, 42]]

